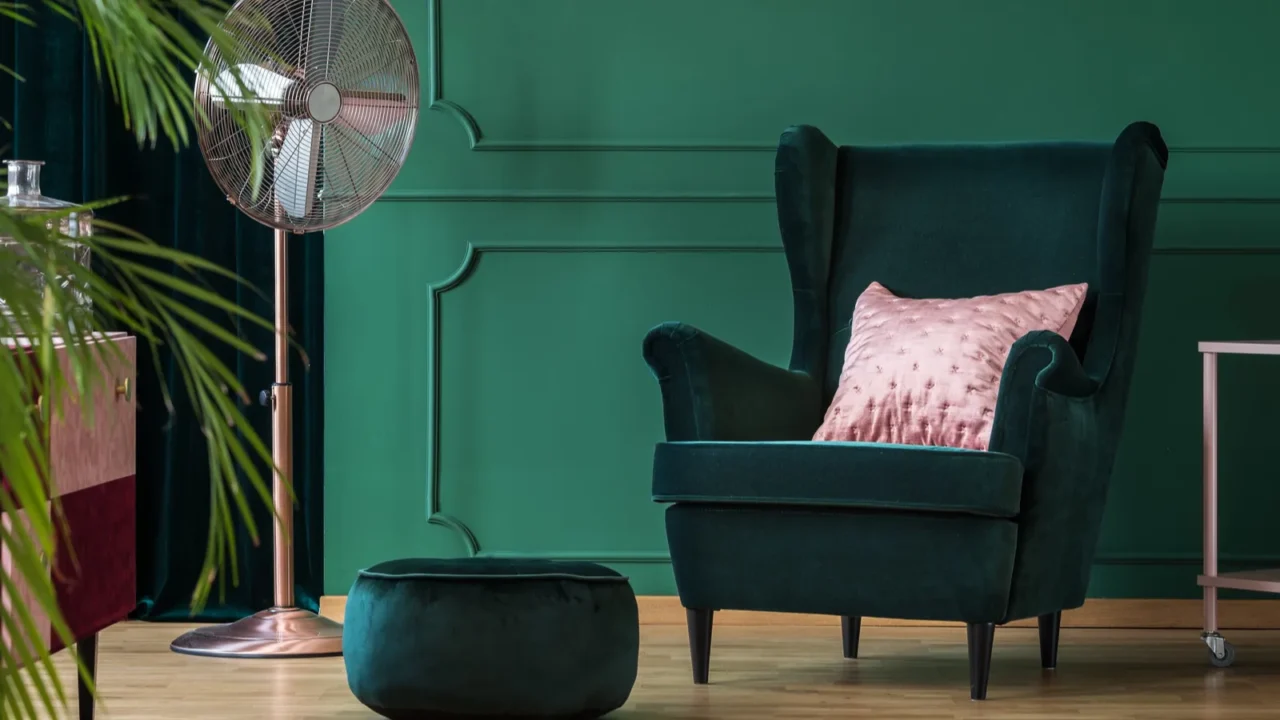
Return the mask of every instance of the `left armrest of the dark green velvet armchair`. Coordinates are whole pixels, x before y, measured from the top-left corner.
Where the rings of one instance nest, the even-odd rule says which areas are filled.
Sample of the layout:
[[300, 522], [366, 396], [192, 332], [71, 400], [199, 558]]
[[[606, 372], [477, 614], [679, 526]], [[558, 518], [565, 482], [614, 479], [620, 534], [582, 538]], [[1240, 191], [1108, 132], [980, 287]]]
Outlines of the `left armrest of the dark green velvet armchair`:
[[822, 392], [805, 374], [771, 365], [684, 323], [644, 338], [662, 389], [668, 441], [809, 439], [822, 424]]

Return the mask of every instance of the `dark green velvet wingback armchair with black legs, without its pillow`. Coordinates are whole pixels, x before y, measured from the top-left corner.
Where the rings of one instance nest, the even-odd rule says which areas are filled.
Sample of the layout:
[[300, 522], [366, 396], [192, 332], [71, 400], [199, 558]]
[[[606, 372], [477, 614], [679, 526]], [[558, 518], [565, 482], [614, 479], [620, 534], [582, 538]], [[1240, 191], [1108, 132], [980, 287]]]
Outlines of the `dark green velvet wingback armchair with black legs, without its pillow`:
[[[708, 682], [716, 610], [969, 628], [983, 700], [995, 626], [1038, 618], [1053, 667], [1084, 602], [1133, 374], [1169, 152], [1135, 123], [1114, 143], [837, 147], [782, 135], [778, 220], [795, 299], [788, 368], [696, 328], [649, 332], [667, 442], [653, 497]], [[810, 442], [836, 391], [858, 296], [972, 297], [1088, 282], [1070, 338], [1009, 355], [988, 451]]]

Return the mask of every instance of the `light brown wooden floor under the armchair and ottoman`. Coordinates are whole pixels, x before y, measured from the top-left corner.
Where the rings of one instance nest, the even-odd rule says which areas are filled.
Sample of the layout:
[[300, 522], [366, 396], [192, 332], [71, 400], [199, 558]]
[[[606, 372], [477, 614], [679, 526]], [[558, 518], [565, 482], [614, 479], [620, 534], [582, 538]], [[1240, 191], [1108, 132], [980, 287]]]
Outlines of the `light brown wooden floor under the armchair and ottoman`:
[[[376, 717], [347, 691], [340, 659], [174, 655], [169, 641], [183, 629], [131, 623], [104, 633], [100, 717]], [[865, 628], [861, 657], [844, 660], [838, 633], [826, 628], [717, 628], [705, 687], [690, 682], [686, 638], [680, 625], [643, 628], [640, 676], [611, 717], [1280, 717], [1280, 632], [1228, 633], [1236, 666], [1217, 670], [1196, 632], [1064, 629], [1060, 667], [1042, 673], [1036, 630], [1002, 628], [984, 703], [969, 701], [963, 629]], [[59, 657], [70, 680], [65, 653]]]

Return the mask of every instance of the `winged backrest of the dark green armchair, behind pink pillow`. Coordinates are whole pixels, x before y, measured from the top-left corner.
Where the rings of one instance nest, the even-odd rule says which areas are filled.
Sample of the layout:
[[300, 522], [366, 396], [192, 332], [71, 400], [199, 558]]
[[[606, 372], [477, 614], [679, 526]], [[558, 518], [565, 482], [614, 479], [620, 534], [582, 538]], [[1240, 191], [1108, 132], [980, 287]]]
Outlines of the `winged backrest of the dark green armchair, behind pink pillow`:
[[873, 281], [906, 297], [1087, 282], [1071, 345], [1094, 380], [1126, 386], [1166, 161], [1148, 123], [1114, 143], [837, 147], [814, 127], [787, 129], [774, 179], [791, 368], [831, 400]]

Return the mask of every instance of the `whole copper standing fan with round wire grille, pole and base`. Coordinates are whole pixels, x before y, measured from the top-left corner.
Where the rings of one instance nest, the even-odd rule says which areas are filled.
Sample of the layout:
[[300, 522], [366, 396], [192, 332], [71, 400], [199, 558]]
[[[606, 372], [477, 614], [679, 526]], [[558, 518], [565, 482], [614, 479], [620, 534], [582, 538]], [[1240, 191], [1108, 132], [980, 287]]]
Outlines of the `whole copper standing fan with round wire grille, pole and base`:
[[[417, 61], [385, 0], [239, 0], [223, 28], [236, 38], [236, 58], [206, 46], [195, 94], [207, 122], [197, 122], [197, 132], [227, 200], [275, 231], [275, 382], [264, 392], [276, 468], [275, 598], [243, 620], [192, 630], [172, 648], [215, 657], [340, 655], [342, 625], [296, 607], [293, 597], [288, 240], [355, 218], [396, 178], [417, 124]], [[237, 104], [270, 111], [265, 145], [233, 120]]]

